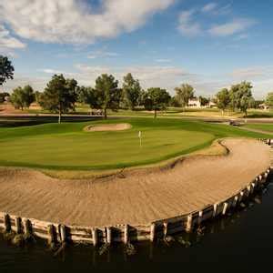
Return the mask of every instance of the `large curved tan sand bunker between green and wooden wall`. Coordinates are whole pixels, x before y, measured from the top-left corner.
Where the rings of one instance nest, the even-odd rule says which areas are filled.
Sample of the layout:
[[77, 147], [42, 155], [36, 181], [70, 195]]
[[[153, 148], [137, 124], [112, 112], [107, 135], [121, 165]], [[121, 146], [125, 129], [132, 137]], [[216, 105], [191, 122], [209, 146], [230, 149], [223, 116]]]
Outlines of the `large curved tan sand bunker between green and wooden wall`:
[[227, 156], [188, 157], [175, 167], [140, 169], [98, 180], [59, 180], [0, 168], [0, 211], [89, 227], [147, 224], [227, 199], [268, 166], [270, 147], [226, 139]]

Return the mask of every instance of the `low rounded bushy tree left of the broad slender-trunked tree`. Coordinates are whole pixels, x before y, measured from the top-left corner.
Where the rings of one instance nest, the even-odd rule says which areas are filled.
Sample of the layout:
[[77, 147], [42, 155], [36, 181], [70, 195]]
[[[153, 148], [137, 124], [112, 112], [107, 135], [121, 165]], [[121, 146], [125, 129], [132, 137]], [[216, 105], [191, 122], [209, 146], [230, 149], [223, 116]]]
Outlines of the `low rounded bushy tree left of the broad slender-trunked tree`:
[[29, 107], [35, 101], [35, 93], [31, 86], [21, 87], [18, 86], [13, 91], [10, 97], [11, 103], [16, 109], [21, 109], [23, 111], [24, 107]]

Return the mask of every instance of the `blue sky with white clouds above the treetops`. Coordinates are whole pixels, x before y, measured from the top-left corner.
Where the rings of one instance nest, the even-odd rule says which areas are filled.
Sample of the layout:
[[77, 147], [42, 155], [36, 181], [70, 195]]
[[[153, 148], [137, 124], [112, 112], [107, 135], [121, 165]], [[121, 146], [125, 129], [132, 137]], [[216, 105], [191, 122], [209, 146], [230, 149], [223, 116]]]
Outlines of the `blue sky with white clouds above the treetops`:
[[272, 0], [0, 0], [0, 55], [43, 91], [54, 74], [94, 86], [130, 72], [141, 86], [213, 96], [243, 80], [273, 91]]

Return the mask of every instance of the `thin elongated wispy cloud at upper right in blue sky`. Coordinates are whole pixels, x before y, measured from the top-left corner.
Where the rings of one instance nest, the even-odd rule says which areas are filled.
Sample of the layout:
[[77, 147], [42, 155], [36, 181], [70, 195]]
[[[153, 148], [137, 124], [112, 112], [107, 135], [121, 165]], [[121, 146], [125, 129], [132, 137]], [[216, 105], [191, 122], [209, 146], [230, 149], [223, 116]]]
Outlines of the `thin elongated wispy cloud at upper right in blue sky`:
[[255, 25], [256, 23], [255, 20], [249, 18], [233, 19], [225, 24], [212, 26], [208, 29], [208, 33], [215, 36], [234, 35], [245, 31], [248, 27]]

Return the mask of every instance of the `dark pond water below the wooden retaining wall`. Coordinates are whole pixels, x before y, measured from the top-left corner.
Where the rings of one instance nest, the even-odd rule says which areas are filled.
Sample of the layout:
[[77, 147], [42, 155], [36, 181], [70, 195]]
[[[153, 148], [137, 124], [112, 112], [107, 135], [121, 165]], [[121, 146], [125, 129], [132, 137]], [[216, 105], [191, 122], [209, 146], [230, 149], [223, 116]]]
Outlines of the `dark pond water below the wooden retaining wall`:
[[182, 271], [185, 266], [197, 265], [197, 262], [236, 264], [245, 269], [251, 262], [264, 264], [270, 261], [273, 251], [272, 176], [269, 181], [267, 188], [232, 215], [217, 218], [193, 234], [179, 235], [171, 242], [136, 244], [136, 253], [132, 255], [126, 254], [121, 245], [104, 253], [102, 249], [94, 251], [91, 246], [73, 246], [55, 255], [43, 241], [19, 248], [1, 237], [0, 272], [97, 272], [104, 269], [154, 272], [165, 266]]

